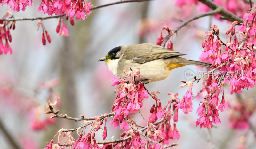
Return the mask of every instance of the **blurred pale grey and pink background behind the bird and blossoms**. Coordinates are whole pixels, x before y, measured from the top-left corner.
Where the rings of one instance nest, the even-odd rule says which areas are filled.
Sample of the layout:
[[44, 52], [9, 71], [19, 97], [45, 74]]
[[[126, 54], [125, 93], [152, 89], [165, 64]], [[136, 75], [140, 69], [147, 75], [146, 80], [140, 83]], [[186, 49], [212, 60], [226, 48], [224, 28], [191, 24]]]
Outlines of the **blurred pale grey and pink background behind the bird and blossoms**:
[[[93, 5], [110, 2], [112, 0], [92, 0]], [[44, 16], [36, 11], [38, 5], [39, 1], [36, 1], [24, 12], [11, 12], [15, 17]], [[1, 16], [4, 16], [6, 9], [10, 8], [4, 5], [0, 9]], [[116, 46], [156, 43], [162, 29], [162, 22], [175, 28], [180, 24], [180, 20], [196, 14], [198, 14], [196, 7], [184, 6], [180, 9], [174, 6], [174, 1], [170, 0], [117, 4], [92, 11], [85, 20], [75, 20], [74, 26], [67, 21], [68, 37], [62, 37], [56, 33], [59, 19], [43, 20], [52, 39], [52, 42], [45, 46], [42, 45], [42, 28], [37, 31], [37, 21], [17, 21], [16, 29], [11, 31], [10, 45], [13, 54], [0, 56], [1, 148], [11, 149], [14, 148], [13, 144], [26, 149], [44, 148], [46, 142], [50, 142], [59, 129], [73, 129], [83, 125], [82, 122], [66, 119], [48, 122], [48, 116], [43, 113], [50, 95], [52, 102], [55, 97], [60, 97], [57, 109], [60, 109], [61, 114], [68, 114], [71, 117], [79, 117], [82, 114], [85, 117], [93, 117], [109, 113], [116, 97], [115, 87], [110, 87], [113, 74], [108, 70], [105, 62], [98, 62], [98, 59]], [[220, 37], [226, 42], [225, 32], [230, 23], [205, 17], [189, 23], [178, 32], [178, 36], [173, 39], [174, 50], [185, 53], [185, 58], [199, 60], [199, 55], [203, 51], [201, 44], [205, 38], [204, 33], [213, 23], [219, 26]], [[166, 32], [163, 34], [167, 35]], [[199, 69], [202, 70], [194, 66], [180, 67], [172, 70], [168, 79], [145, 86], [150, 92], [160, 91], [158, 97], [164, 104], [170, 99], [168, 92], [177, 92], [179, 98], [182, 98], [187, 89], [179, 87], [181, 84], [179, 80], [185, 80], [187, 69], [195, 73]], [[55, 86], [54, 84], [58, 85], [49, 92], [47, 85]], [[200, 90], [200, 86], [201, 83], [195, 84], [192, 91], [196, 93]], [[241, 96], [231, 96], [228, 90], [228, 88], [224, 90], [225, 100], [230, 105], [236, 105], [237, 99], [242, 99], [246, 109], [250, 109], [251, 112], [250, 124], [256, 126], [256, 117], [253, 114], [254, 89], [243, 90]], [[180, 145], [173, 148], [210, 148], [207, 141], [208, 129], [199, 129], [194, 125], [198, 118], [195, 114], [196, 109], [203, 98], [200, 96], [193, 101], [192, 113], [186, 115], [179, 112], [177, 129], [180, 132], [180, 139], [172, 140], [171, 143]], [[141, 112], [146, 118], [149, 117], [152, 103], [151, 98], [144, 100]], [[239, 117], [239, 114], [236, 114], [236, 110], [232, 108], [229, 111], [220, 112], [222, 123], [211, 129], [212, 142], [216, 148], [233, 149], [241, 146], [256, 148], [254, 127], [231, 129], [232, 115]], [[243, 115], [240, 114], [240, 116]], [[135, 119], [143, 124], [139, 115]], [[110, 118], [108, 122], [109, 120]], [[119, 138], [121, 131], [114, 131], [112, 126], [107, 129], [106, 140], [110, 140], [112, 136], [114, 139]], [[77, 139], [78, 135], [75, 133], [73, 132], [73, 136]], [[96, 138], [100, 141], [101, 136], [102, 131], [99, 130]], [[10, 142], [8, 137], [15, 142]]]

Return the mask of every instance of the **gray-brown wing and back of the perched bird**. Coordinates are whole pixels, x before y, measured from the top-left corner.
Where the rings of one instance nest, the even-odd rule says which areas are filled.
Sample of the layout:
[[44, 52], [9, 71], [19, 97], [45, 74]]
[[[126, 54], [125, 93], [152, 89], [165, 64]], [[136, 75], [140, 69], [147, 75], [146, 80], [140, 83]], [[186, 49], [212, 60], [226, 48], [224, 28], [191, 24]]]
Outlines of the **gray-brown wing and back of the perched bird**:
[[123, 58], [127, 60], [133, 59], [135, 62], [138, 63], [149, 62], [156, 59], [165, 59], [172, 56], [185, 55], [177, 51], [165, 49], [162, 46], [151, 43], [134, 44], [129, 46], [123, 46], [122, 48], [125, 48]]

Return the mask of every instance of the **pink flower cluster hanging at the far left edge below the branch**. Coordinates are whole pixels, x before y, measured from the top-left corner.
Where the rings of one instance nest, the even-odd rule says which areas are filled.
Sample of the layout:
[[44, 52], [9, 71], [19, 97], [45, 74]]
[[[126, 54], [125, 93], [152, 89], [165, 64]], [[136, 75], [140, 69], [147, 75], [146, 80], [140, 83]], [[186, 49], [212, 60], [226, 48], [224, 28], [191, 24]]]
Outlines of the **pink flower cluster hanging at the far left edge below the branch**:
[[[13, 14], [7, 10], [3, 18], [7, 18], [12, 15]], [[0, 21], [0, 55], [7, 53], [12, 54], [12, 48], [9, 45], [9, 42], [12, 42], [11, 29], [15, 29], [15, 22], [12, 22], [10, 25], [7, 21]]]

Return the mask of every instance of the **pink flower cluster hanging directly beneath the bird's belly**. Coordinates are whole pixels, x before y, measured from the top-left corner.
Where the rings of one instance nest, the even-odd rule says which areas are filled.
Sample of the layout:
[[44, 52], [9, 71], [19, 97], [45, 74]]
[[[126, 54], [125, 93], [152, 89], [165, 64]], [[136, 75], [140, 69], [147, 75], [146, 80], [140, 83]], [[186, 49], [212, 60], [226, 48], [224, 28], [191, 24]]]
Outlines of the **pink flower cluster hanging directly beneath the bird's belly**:
[[[116, 115], [109, 123], [109, 125], [113, 124], [114, 129], [124, 119], [128, 118], [128, 114], [138, 112], [143, 105], [142, 100], [149, 97], [140, 78], [140, 69], [137, 68], [128, 72], [125, 70], [125, 73], [124, 80], [116, 77], [112, 77], [111, 79], [111, 86], [118, 85], [116, 99], [111, 109], [112, 112], [116, 112]], [[132, 80], [127, 81], [126, 79], [128, 78]]]

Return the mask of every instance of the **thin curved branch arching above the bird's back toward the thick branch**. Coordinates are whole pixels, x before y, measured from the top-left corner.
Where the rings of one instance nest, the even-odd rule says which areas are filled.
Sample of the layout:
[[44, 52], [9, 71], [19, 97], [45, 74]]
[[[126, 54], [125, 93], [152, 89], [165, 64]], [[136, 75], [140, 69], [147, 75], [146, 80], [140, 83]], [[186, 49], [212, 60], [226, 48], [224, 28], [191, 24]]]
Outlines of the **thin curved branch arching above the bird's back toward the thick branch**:
[[[192, 18], [189, 18], [188, 20], [185, 20], [183, 21], [178, 27], [176, 27], [173, 32], [177, 34], [177, 32], [184, 26], [186, 26], [189, 22], [193, 21], [193, 20], [196, 20], [196, 19], [199, 19], [199, 18], [202, 18], [202, 17], [206, 17], [206, 16], [210, 16], [210, 15], [214, 15], [214, 14], [217, 14], [220, 12], [220, 9], [215, 9], [213, 11], [210, 11], [210, 12], [206, 12], [206, 13], [202, 13], [202, 14], [199, 14], [195, 17], [192, 17]], [[164, 47], [164, 45], [167, 43], [167, 41], [169, 40], [169, 38], [171, 37], [172, 35], [169, 34], [168, 36], [166, 36], [164, 38], [164, 41], [163, 43], [161, 44], [162, 47]]]

